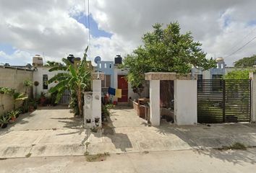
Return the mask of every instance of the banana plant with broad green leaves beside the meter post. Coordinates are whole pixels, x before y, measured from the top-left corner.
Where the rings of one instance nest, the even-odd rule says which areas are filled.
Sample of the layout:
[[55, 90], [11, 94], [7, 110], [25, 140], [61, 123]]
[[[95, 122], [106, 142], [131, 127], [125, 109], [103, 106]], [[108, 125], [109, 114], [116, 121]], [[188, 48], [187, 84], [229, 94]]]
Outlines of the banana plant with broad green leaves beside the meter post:
[[87, 51], [88, 48], [85, 49], [82, 62], [77, 68], [67, 58], [62, 58], [62, 61], [66, 64], [65, 66], [55, 66], [49, 69], [49, 71], [62, 71], [48, 80], [48, 84], [58, 81], [56, 86], [49, 89], [51, 93], [57, 92], [56, 103], [59, 102], [64, 91], [70, 89], [77, 96], [80, 116], [82, 116], [82, 92], [90, 90], [90, 71], [86, 68]]

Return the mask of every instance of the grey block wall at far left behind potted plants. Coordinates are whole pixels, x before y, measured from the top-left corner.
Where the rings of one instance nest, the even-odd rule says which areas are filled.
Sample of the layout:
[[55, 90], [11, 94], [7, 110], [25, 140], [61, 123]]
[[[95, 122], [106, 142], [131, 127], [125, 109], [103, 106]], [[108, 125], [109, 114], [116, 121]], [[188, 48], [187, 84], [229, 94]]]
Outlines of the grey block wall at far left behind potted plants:
[[[16, 92], [25, 92], [25, 87], [23, 86], [23, 81], [25, 80], [33, 81], [33, 71], [28, 71], [22, 68], [2, 68], [0, 67], [0, 86], [15, 89]], [[29, 89], [28, 94], [31, 94], [32, 88]], [[22, 102], [18, 102], [16, 107], [19, 107]], [[1, 105], [1, 100], [0, 100]], [[4, 110], [0, 108], [0, 115], [3, 112], [12, 110], [13, 101], [12, 97], [9, 95], [4, 95], [3, 97]]]

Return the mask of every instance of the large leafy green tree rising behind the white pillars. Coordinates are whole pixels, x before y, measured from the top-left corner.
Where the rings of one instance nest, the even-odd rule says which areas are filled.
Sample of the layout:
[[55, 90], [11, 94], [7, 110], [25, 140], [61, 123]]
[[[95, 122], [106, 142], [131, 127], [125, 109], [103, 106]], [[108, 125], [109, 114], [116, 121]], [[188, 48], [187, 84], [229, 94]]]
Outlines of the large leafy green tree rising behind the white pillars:
[[[216, 61], [205, 58], [199, 42], [195, 42], [191, 32], [180, 33], [178, 22], [172, 22], [163, 28], [153, 25], [153, 32], [142, 37], [143, 45], [124, 58], [122, 68], [129, 71], [127, 79], [133, 88], [140, 88], [146, 72], [176, 72], [187, 74], [192, 66], [209, 69]], [[140, 90], [140, 89], [139, 89]]]

